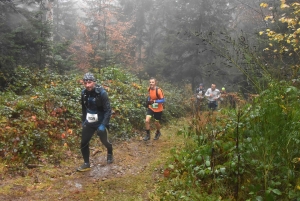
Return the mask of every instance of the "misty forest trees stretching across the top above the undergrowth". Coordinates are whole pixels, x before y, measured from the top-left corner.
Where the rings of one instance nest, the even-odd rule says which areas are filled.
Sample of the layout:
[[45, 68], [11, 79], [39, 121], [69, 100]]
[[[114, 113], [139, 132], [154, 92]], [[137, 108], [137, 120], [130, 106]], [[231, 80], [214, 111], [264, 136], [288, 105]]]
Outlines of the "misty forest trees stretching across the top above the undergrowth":
[[[280, 6], [270, 0], [1, 1], [0, 86], [12, 82], [17, 66], [64, 74], [118, 65], [140, 78], [254, 92], [249, 69], [258, 77], [266, 66], [279, 79], [297, 74], [287, 67], [298, 69], [297, 54], [263, 51], [270, 35], [261, 31], [288, 31], [280, 18], [292, 9]], [[273, 47], [282, 46], [276, 42]]]

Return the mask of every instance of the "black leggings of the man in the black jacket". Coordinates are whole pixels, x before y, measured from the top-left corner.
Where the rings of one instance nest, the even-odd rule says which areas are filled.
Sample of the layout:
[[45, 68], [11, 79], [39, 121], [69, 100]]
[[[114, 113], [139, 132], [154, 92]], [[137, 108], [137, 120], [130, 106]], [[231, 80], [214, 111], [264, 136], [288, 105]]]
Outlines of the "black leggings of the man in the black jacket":
[[[84, 125], [82, 128], [80, 148], [85, 163], [89, 163], [90, 161], [89, 143], [96, 130], [97, 128], [87, 125]], [[106, 147], [107, 153], [112, 154], [112, 144], [107, 139], [107, 131], [105, 130], [105, 132], [99, 132], [97, 130], [97, 135], [100, 137], [102, 144]]]

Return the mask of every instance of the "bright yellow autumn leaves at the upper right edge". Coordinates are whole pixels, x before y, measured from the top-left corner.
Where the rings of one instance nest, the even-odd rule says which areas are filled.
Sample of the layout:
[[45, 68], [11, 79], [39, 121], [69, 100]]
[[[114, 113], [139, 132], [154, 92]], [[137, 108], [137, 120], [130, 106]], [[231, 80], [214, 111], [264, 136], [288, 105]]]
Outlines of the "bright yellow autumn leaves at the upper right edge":
[[[269, 6], [267, 3], [261, 3], [261, 7], [269, 10], [274, 10], [274, 7]], [[280, 16], [267, 15], [265, 21], [274, 24], [279, 22], [278, 26], [268, 28], [260, 31], [260, 35], [265, 35], [269, 42], [268, 47], [264, 51], [270, 52], [274, 55], [274, 58], [286, 59], [286, 61], [293, 61], [290, 66], [290, 75], [292, 78], [298, 76], [300, 69], [299, 54], [299, 37], [300, 37], [300, 3], [293, 2], [287, 3], [285, 0], [281, 0], [280, 4]], [[284, 27], [284, 30], [276, 30], [275, 27]], [[288, 63], [290, 63], [288, 62]]]

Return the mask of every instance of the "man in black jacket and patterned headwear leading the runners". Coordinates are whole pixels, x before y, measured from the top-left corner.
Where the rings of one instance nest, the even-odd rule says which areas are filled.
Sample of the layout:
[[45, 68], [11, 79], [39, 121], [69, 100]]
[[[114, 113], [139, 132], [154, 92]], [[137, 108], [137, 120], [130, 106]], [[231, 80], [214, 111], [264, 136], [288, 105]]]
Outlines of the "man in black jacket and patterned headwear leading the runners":
[[107, 149], [107, 163], [110, 164], [114, 161], [112, 144], [107, 139], [108, 124], [111, 117], [107, 93], [102, 86], [96, 84], [96, 79], [92, 73], [84, 75], [83, 84], [85, 89], [81, 92], [82, 135], [80, 148], [84, 163], [77, 168], [79, 172], [90, 169], [89, 142], [95, 131]]

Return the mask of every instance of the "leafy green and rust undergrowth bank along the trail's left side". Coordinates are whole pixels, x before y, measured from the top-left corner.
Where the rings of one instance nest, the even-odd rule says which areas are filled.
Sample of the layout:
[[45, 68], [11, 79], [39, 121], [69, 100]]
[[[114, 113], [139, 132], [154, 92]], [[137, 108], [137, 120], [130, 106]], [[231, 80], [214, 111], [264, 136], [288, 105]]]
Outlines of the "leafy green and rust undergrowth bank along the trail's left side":
[[[144, 129], [146, 109], [142, 103], [148, 80], [140, 81], [115, 67], [94, 73], [111, 101], [111, 139], [126, 140], [139, 135]], [[30, 164], [57, 163], [65, 157], [66, 149], [78, 151], [82, 74], [16, 69], [10, 85], [0, 92], [0, 157], [7, 164], [3, 171], [16, 173]], [[167, 83], [160, 87], [168, 108], [163, 120], [182, 116], [189, 105], [181, 100], [190, 91], [174, 89]]]

